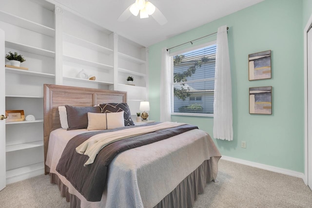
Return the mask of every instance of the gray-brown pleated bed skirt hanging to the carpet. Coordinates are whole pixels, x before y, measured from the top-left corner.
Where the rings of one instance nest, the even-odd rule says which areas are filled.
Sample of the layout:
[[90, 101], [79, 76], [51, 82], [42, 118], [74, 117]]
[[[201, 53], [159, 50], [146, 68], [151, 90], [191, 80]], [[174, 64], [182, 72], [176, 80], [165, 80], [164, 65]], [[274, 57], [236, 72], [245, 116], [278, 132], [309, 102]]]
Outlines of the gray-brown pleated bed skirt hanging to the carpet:
[[[204, 192], [206, 183], [215, 180], [216, 175], [213, 176], [212, 169], [217, 168], [217, 163], [220, 158], [220, 156], [216, 156], [205, 160], [154, 208], [193, 207], [197, 195]], [[61, 182], [56, 174], [50, 173], [50, 182], [59, 186], [61, 196], [66, 197], [66, 201], [70, 202], [71, 208], [80, 208], [80, 199], [68, 192], [68, 188]]]

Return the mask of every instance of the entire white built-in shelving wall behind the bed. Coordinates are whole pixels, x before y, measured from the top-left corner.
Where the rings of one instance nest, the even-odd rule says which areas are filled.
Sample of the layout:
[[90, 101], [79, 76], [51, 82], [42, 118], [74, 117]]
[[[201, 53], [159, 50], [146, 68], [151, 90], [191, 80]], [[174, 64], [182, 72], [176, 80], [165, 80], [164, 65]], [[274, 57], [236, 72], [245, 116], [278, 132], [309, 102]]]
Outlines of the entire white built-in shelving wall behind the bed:
[[[135, 116], [139, 102], [147, 100], [146, 48], [59, 6], [14, 0], [0, 8], [5, 53], [23, 55], [21, 67], [28, 69], [5, 67], [6, 110], [36, 117], [5, 125], [7, 183], [43, 173], [43, 84], [126, 91]], [[8, 60], [6, 65], [11, 65]], [[82, 70], [88, 77], [79, 76]], [[135, 86], [126, 85], [128, 76]]]

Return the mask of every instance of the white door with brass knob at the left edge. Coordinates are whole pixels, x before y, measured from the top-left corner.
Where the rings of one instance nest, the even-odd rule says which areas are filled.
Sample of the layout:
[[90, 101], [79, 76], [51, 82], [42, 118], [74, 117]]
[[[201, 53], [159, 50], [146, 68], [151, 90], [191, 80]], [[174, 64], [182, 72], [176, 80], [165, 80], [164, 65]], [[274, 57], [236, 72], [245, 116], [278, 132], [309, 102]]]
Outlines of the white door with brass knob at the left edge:
[[[4, 31], [0, 29], [0, 115], [5, 115]], [[5, 188], [5, 119], [0, 120], [0, 190]]]

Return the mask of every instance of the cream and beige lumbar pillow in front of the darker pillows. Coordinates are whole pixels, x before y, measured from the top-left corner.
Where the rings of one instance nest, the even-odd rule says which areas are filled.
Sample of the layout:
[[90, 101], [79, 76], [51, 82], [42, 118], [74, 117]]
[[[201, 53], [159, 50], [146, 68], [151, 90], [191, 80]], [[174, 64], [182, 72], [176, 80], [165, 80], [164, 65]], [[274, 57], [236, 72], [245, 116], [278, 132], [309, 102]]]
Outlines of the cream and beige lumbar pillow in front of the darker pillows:
[[124, 127], [123, 112], [90, 113], [88, 112], [87, 130], [105, 130]]

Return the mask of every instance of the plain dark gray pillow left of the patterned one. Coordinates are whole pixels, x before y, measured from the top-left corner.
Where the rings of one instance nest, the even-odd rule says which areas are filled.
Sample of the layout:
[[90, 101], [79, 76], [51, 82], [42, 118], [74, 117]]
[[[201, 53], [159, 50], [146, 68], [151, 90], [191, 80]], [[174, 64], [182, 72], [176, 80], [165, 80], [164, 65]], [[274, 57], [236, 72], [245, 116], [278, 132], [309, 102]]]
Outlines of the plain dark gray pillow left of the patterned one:
[[86, 129], [88, 127], [88, 112], [101, 113], [99, 107], [76, 107], [65, 105], [67, 111], [67, 130]]

